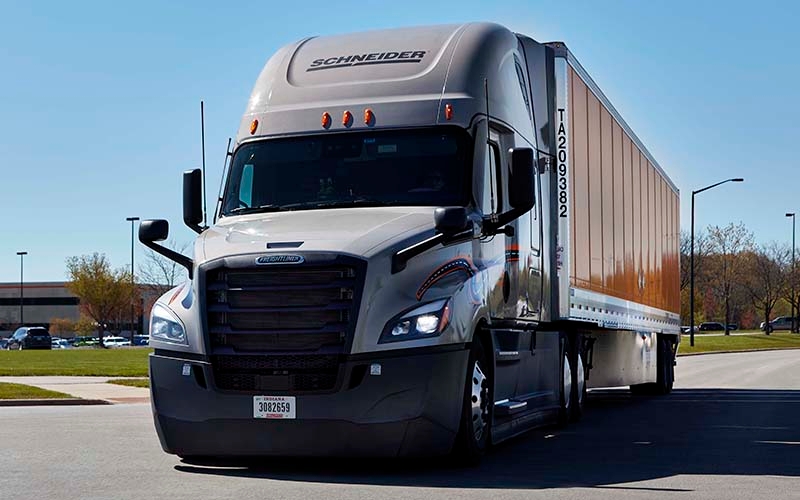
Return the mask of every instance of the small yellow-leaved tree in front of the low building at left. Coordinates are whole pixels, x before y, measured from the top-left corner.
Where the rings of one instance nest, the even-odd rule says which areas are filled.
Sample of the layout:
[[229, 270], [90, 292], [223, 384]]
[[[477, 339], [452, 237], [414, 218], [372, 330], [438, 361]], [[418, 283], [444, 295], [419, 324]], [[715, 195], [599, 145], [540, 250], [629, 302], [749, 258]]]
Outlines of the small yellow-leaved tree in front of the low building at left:
[[67, 274], [67, 288], [78, 296], [81, 310], [97, 323], [102, 346], [105, 326], [131, 305], [134, 290], [130, 271], [114, 270], [105, 255], [94, 253], [67, 259]]

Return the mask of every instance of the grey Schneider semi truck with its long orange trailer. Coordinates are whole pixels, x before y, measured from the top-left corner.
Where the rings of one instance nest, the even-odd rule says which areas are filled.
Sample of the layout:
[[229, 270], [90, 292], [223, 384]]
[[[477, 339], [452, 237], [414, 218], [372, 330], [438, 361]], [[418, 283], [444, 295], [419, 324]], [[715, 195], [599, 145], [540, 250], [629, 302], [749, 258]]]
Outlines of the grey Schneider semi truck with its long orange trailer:
[[477, 461], [665, 394], [679, 192], [563, 43], [490, 23], [319, 36], [261, 71], [189, 280], [151, 313], [163, 449]]

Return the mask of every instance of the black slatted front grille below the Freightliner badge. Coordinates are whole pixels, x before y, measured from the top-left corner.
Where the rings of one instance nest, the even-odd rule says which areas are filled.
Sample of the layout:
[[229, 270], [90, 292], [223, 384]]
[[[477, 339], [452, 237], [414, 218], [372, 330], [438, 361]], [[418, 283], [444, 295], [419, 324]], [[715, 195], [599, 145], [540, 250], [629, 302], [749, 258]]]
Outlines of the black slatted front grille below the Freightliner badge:
[[356, 263], [307, 262], [207, 271], [216, 386], [248, 392], [335, 389], [358, 309], [360, 270]]

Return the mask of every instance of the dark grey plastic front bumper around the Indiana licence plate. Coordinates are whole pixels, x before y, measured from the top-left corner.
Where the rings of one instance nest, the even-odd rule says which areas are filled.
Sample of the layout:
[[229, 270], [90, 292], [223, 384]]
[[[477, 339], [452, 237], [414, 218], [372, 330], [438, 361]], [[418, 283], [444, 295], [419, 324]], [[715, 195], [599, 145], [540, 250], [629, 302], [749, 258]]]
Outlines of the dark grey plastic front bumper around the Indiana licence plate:
[[[253, 418], [254, 395], [291, 394], [220, 391], [208, 363], [153, 354], [156, 430], [164, 451], [181, 456], [446, 454], [458, 432], [468, 353], [447, 346], [351, 359], [337, 392], [296, 395], [295, 420]], [[370, 375], [375, 363], [380, 375]]]

